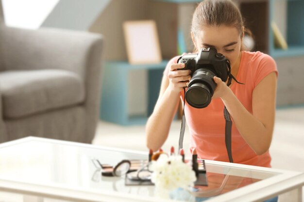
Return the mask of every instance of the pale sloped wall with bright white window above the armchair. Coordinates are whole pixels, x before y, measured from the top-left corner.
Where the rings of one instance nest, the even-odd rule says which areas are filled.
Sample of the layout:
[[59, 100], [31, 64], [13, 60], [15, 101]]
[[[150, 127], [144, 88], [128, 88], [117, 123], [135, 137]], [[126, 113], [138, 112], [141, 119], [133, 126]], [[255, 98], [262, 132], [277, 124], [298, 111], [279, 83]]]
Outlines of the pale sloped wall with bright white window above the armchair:
[[5, 24], [88, 30], [111, 0], [2, 0]]

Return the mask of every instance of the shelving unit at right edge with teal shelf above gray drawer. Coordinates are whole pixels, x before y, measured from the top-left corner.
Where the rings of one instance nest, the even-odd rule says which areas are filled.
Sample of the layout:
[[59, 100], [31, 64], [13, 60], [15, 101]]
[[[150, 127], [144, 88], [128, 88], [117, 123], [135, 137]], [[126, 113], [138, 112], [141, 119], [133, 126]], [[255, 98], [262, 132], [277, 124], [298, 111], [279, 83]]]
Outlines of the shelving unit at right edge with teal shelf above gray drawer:
[[275, 59], [279, 72], [277, 106], [303, 105], [304, 0], [270, 0], [269, 12], [270, 22], [281, 27], [288, 45], [286, 50], [274, 47], [269, 25], [269, 54]]

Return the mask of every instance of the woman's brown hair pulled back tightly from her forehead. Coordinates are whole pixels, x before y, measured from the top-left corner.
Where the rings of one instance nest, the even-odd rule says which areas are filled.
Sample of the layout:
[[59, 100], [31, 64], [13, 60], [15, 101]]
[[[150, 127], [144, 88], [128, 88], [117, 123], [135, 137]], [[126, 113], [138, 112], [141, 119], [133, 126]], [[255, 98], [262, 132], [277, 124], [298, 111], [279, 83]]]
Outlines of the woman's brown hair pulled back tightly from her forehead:
[[[198, 35], [203, 26], [220, 25], [234, 26], [239, 31], [240, 36], [242, 35], [245, 26], [236, 4], [231, 0], [203, 0], [199, 3], [192, 17], [191, 31], [194, 36]], [[245, 29], [244, 31], [252, 36], [249, 30]]]

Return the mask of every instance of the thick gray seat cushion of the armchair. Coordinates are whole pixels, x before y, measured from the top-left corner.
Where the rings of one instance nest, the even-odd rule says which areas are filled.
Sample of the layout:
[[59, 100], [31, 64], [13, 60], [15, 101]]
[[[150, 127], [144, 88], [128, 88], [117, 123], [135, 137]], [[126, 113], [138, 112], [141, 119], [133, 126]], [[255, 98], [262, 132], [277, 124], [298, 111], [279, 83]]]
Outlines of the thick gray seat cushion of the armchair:
[[3, 117], [25, 117], [84, 102], [84, 82], [66, 70], [0, 72]]

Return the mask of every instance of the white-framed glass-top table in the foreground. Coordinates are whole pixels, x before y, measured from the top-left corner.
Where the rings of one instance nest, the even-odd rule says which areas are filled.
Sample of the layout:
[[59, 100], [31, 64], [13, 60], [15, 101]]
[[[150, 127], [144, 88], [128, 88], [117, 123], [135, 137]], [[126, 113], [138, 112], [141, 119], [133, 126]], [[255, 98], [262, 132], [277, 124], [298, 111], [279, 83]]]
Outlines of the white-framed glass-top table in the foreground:
[[[156, 200], [154, 186], [125, 186], [124, 177], [101, 176], [94, 158], [115, 165], [123, 159], [145, 160], [148, 152], [34, 137], [2, 143], [0, 202], [12, 196], [20, 202], [172, 201]], [[200, 186], [200, 192], [189, 193], [184, 201], [262, 202], [290, 191], [297, 202], [302, 201], [301, 172], [210, 160], [205, 164], [208, 186]]]

